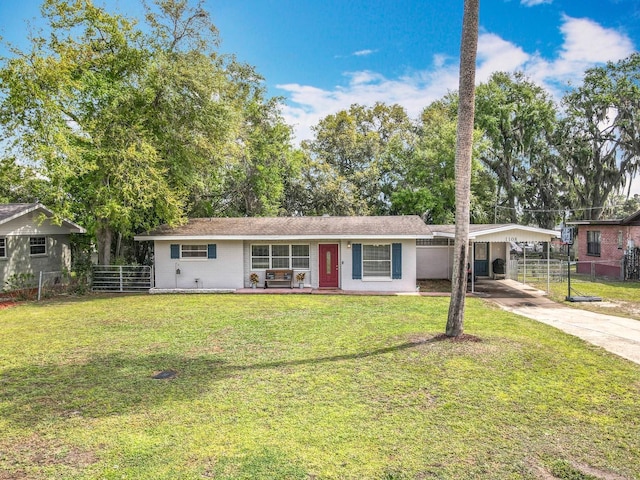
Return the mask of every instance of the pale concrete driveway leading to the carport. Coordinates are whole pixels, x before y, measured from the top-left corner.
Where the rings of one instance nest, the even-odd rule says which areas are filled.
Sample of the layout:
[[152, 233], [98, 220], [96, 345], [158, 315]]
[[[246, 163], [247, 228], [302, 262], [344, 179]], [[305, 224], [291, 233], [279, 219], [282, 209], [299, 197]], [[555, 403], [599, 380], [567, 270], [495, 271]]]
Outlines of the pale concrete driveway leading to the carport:
[[480, 280], [475, 293], [523, 317], [556, 327], [640, 364], [640, 321], [566, 307], [514, 280]]

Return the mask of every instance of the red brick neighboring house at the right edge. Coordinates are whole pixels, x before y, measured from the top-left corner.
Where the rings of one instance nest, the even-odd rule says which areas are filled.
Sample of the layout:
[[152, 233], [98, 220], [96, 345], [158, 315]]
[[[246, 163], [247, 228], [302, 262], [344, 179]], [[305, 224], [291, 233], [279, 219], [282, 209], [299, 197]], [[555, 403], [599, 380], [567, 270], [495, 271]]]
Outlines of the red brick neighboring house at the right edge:
[[569, 223], [578, 227], [578, 273], [624, 279], [625, 254], [640, 247], [640, 210], [618, 220]]

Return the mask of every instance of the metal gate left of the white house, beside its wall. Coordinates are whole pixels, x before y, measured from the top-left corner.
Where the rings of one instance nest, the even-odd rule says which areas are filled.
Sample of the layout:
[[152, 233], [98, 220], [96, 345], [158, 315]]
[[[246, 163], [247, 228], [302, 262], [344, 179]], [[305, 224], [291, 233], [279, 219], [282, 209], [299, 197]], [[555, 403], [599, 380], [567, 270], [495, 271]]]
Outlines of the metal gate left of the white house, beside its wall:
[[153, 269], [144, 265], [94, 265], [94, 292], [146, 292], [153, 286]]

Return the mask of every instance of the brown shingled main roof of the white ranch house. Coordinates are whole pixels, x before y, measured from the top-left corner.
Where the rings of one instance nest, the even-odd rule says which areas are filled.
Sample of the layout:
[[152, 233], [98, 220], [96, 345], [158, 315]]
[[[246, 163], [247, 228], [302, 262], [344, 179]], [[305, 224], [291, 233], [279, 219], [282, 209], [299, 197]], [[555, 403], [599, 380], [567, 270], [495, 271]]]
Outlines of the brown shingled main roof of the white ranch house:
[[162, 226], [136, 240], [187, 239], [431, 238], [416, 215], [382, 217], [193, 218], [185, 225]]

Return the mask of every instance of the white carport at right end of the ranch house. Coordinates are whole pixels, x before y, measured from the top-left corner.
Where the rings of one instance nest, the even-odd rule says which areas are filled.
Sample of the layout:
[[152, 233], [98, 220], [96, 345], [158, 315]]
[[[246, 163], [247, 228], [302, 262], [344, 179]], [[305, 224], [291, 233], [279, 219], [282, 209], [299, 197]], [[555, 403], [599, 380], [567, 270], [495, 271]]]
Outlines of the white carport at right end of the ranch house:
[[[417, 245], [418, 278], [451, 279], [453, 269], [454, 225], [428, 225], [431, 238], [419, 240]], [[496, 278], [506, 276], [512, 243], [546, 242], [547, 259], [550, 244], [559, 238], [560, 232], [544, 228], [527, 227], [515, 224], [473, 224], [469, 225], [469, 258], [471, 267], [471, 291], [474, 291], [476, 277]], [[494, 262], [504, 261], [505, 270], [494, 272]], [[526, 268], [526, 253], [524, 262]], [[549, 263], [547, 262], [547, 282], [549, 281]]]

